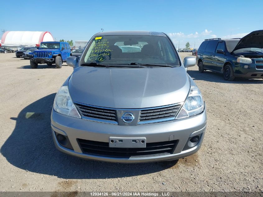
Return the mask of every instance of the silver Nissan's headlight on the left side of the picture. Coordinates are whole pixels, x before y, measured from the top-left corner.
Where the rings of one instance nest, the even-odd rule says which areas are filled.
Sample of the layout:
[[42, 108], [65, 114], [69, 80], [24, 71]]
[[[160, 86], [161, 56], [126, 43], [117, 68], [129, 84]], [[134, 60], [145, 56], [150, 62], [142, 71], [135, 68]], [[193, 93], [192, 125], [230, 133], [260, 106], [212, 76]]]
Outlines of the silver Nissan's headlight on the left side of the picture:
[[69, 95], [68, 86], [62, 86], [59, 89], [54, 100], [54, 110], [60, 114], [81, 118]]

